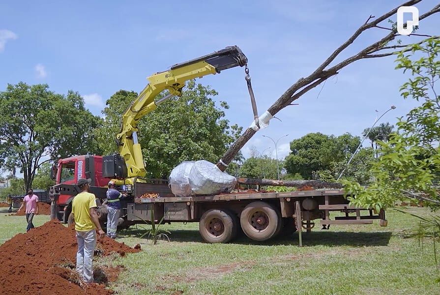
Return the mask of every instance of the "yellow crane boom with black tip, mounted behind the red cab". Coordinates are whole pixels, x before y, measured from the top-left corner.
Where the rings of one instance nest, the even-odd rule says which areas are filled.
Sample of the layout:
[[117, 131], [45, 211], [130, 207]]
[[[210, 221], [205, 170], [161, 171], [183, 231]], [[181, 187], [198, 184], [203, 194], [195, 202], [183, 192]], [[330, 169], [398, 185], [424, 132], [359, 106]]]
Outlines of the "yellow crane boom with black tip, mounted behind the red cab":
[[[197, 59], [177, 63], [171, 66], [168, 71], [158, 72], [148, 77], [147, 86], [123, 114], [121, 130], [117, 134], [119, 154], [127, 165], [128, 177], [144, 177], [146, 175], [144, 158], [136, 133], [138, 121], [142, 117], [154, 111], [158, 105], [170, 97], [182, 95], [186, 81], [246, 64], [247, 58], [240, 48], [230, 46]], [[168, 90], [170, 93], [164, 98], [154, 101], [156, 95], [163, 90]]]

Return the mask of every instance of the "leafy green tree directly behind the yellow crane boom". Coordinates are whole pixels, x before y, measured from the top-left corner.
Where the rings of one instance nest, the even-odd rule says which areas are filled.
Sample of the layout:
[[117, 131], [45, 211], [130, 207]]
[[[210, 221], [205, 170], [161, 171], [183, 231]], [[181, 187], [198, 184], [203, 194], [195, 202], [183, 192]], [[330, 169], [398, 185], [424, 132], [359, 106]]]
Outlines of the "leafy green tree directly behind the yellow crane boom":
[[[181, 97], [169, 99], [139, 121], [138, 137], [147, 177], [167, 178], [185, 160], [215, 163], [234, 142], [241, 127], [230, 126], [224, 119], [224, 110], [229, 106], [220, 102], [217, 107], [213, 100], [217, 94], [214, 89], [189, 81]], [[103, 127], [96, 130], [98, 141], [103, 143], [101, 148], [107, 153], [117, 152], [115, 138], [122, 114], [136, 96], [136, 92], [120, 90], [107, 100]]]

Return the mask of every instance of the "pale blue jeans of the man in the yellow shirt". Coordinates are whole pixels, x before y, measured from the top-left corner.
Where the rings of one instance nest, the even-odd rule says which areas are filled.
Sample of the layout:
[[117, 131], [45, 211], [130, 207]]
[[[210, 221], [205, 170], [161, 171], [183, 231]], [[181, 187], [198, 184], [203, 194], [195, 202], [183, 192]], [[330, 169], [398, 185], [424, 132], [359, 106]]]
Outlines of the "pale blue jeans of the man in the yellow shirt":
[[76, 253], [76, 270], [86, 283], [93, 283], [93, 253], [96, 246], [96, 231], [76, 232], [78, 252]]

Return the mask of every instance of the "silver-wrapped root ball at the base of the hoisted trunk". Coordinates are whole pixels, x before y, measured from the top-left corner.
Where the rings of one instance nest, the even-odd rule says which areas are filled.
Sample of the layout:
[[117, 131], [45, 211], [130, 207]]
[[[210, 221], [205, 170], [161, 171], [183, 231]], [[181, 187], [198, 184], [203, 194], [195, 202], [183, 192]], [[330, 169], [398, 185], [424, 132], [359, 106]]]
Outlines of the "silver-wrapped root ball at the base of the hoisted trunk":
[[189, 183], [193, 195], [215, 195], [229, 193], [234, 189], [237, 179], [222, 172], [215, 164], [200, 160], [191, 168]]

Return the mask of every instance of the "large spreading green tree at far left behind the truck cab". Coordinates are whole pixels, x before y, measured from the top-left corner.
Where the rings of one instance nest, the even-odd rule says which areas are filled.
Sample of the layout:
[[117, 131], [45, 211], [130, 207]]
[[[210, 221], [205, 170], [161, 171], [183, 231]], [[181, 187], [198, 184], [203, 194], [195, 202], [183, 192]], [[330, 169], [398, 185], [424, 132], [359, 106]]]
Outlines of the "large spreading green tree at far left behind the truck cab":
[[100, 118], [84, 108], [79, 93], [48, 89], [20, 82], [0, 92], [0, 165], [9, 171], [18, 167], [26, 188], [45, 161], [98, 149], [93, 129]]

